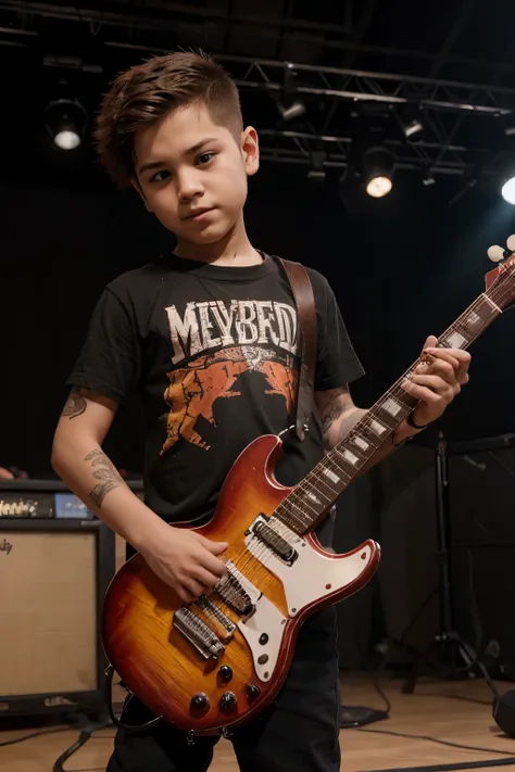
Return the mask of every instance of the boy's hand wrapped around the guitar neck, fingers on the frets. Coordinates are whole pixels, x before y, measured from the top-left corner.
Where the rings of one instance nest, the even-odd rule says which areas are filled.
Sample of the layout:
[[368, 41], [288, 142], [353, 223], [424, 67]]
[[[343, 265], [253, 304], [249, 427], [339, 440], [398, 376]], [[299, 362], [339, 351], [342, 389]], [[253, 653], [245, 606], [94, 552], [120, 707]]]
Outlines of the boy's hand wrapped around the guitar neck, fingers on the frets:
[[440, 418], [447, 406], [468, 383], [470, 354], [461, 349], [435, 347], [438, 339], [429, 336], [424, 353], [428, 364], [420, 364], [411, 380], [403, 382], [403, 389], [413, 394], [420, 404], [413, 414], [415, 423], [424, 426]]

